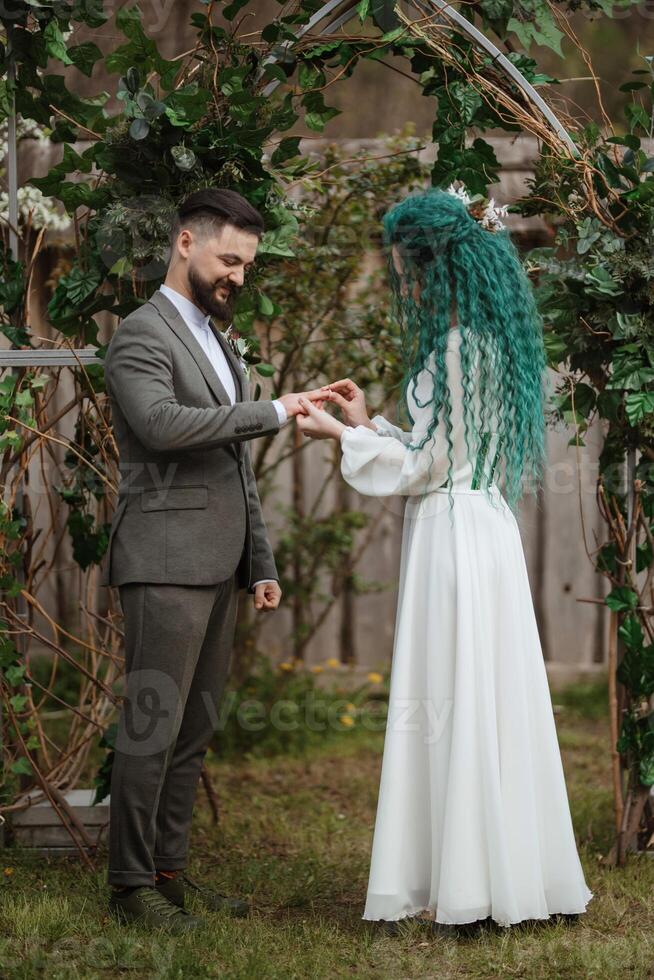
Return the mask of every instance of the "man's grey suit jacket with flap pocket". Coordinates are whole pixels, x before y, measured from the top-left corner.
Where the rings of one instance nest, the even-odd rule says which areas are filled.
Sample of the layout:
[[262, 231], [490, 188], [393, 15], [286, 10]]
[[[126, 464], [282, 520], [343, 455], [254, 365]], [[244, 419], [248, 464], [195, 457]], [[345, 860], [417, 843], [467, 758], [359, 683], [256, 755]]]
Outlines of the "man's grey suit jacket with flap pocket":
[[120, 457], [101, 584], [240, 588], [277, 579], [248, 440], [275, 433], [271, 401], [250, 401], [238, 358], [211, 323], [236, 385], [229, 396], [177, 308], [157, 290], [116, 329], [104, 359]]

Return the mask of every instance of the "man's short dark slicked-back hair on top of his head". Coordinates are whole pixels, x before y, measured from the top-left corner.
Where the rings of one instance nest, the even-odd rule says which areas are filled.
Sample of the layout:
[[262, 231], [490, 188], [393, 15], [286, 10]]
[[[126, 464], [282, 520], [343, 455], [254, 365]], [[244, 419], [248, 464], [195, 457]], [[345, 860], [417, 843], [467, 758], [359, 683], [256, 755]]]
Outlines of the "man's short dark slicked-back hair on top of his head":
[[205, 187], [190, 194], [177, 208], [170, 229], [170, 244], [175, 244], [182, 228], [192, 227], [204, 236], [216, 234], [226, 224], [248, 231], [257, 238], [261, 238], [265, 228], [257, 209], [236, 191]]

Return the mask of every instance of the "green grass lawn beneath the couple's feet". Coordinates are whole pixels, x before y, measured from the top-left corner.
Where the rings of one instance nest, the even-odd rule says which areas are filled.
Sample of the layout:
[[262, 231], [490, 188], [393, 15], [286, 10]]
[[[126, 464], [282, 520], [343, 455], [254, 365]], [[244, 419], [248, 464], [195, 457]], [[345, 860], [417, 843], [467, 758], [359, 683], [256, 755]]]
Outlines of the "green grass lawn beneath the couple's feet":
[[0, 976], [654, 978], [654, 860], [601, 863], [612, 833], [604, 697], [579, 685], [553, 696], [595, 894], [576, 925], [442, 939], [418, 921], [395, 936], [364, 922], [383, 735], [352, 729], [303, 758], [211, 761], [221, 821], [212, 824], [200, 788], [189, 873], [249, 897], [249, 919], [206, 912], [210, 925], [196, 935], [151, 935], [108, 917], [106, 854], [90, 874], [76, 860], [5, 851], [0, 872], [13, 871], [0, 874]]

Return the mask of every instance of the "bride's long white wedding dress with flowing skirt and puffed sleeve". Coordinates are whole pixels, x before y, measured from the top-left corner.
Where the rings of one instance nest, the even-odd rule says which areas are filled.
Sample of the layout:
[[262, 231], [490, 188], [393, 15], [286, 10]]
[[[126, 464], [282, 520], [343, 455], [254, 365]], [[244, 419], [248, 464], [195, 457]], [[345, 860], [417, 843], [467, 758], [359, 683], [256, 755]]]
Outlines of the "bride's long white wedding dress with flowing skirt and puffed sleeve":
[[[592, 892], [577, 853], [518, 525], [496, 484], [493, 503], [473, 489], [460, 340], [461, 329], [451, 329], [452, 522], [443, 420], [424, 449], [407, 448], [421, 441], [432, 406], [421, 409], [409, 393], [412, 432], [376, 416], [377, 432], [348, 427], [341, 439], [350, 486], [407, 498], [362, 918], [430, 911], [437, 922], [491, 916], [508, 926], [583, 912]], [[432, 384], [422, 372], [421, 403]], [[493, 433], [484, 472], [496, 443]]]

